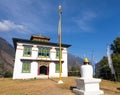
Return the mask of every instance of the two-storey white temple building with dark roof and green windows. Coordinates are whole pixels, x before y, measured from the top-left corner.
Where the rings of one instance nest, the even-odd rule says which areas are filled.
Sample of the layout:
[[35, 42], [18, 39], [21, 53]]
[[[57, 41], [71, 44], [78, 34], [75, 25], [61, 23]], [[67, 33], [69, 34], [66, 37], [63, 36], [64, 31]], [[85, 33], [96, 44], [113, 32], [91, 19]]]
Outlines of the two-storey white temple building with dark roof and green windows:
[[[30, 40], [13, 38], [15, 63], [13, 79], [59, 77], [59, 44], [50, 38], [31, 36]], [[67, 48], [62, 44], [62, 77], [68, 76]]]

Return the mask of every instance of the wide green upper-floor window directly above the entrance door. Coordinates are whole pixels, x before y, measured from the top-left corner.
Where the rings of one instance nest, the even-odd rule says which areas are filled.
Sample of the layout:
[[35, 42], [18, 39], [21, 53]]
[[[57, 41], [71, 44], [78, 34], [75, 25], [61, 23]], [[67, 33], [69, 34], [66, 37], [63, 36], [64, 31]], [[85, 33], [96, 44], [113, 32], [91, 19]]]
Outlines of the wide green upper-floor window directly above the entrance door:
[[45, 47], [39, 47], [38, 57], [50, 57], [50, 49]]

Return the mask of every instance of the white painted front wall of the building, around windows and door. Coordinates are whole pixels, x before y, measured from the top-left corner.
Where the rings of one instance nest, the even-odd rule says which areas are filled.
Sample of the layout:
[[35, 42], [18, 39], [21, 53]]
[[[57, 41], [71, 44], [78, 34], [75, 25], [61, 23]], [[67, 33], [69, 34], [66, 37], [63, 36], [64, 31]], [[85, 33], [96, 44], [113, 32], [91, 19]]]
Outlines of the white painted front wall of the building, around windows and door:
[[[24, 44], [25, 45], [25, 44]], [[37, 45], [32, 45], [32, 55], [31, 57], [24, 57], [23, 56], [23, 50], [24, 46], [22, 43], [17, 43], [16, 48], [16, 55], [15, 55], [15, 63], [14, 63], [14, 71], [13, 71], [13, 79], [29, 79], [29, 78], [36, 78], [38, 76], [38, 48]], [[56, 47], [52, 47], [50, 50], [50, 58], [42, 58], [44, 60], [56, 60], [59, 61], [59, 59], [56, 59]], [[21, 59], [33, 59], [34, 61], [31, 61], [31, 71], [30, 73], [22, 73], [22, 61]], [[67, 49], [64, 48], [62, 50], [62, 61], [64, 63], [62, 64], [62, 77], [68, 76], [68, 67], [67, 67]], [[55, 72], [55, 63], [51, 62], [49, 64], [49, 77], [59, 77], [59, 73]]]

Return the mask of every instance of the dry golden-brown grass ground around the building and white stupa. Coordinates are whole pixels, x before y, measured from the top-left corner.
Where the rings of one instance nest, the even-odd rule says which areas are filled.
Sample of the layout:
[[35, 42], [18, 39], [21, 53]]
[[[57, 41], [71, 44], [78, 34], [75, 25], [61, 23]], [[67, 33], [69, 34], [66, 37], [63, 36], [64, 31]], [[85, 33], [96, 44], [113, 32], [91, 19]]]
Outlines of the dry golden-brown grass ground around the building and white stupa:
[[[12, 80], [0, 79], [0, 95], [75, 95], [75, 77], [63, 78], [64, 84], [57, 84], [59, 79]], [[105, 95], [120, 95], [120, 82], [103, 80], [100, 87]]]

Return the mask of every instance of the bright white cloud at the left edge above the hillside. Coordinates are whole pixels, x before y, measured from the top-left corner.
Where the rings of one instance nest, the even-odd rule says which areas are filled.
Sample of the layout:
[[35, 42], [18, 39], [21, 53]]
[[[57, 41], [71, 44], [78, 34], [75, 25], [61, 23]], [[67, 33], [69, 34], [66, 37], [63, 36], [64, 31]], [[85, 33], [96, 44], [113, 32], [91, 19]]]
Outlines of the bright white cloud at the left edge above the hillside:
[[15, 24], [9, 20], [3, 20], [0, 22], [0, 32], [8, 32], [11, 30], [26, 31], [26, 28], [23, 25]]

